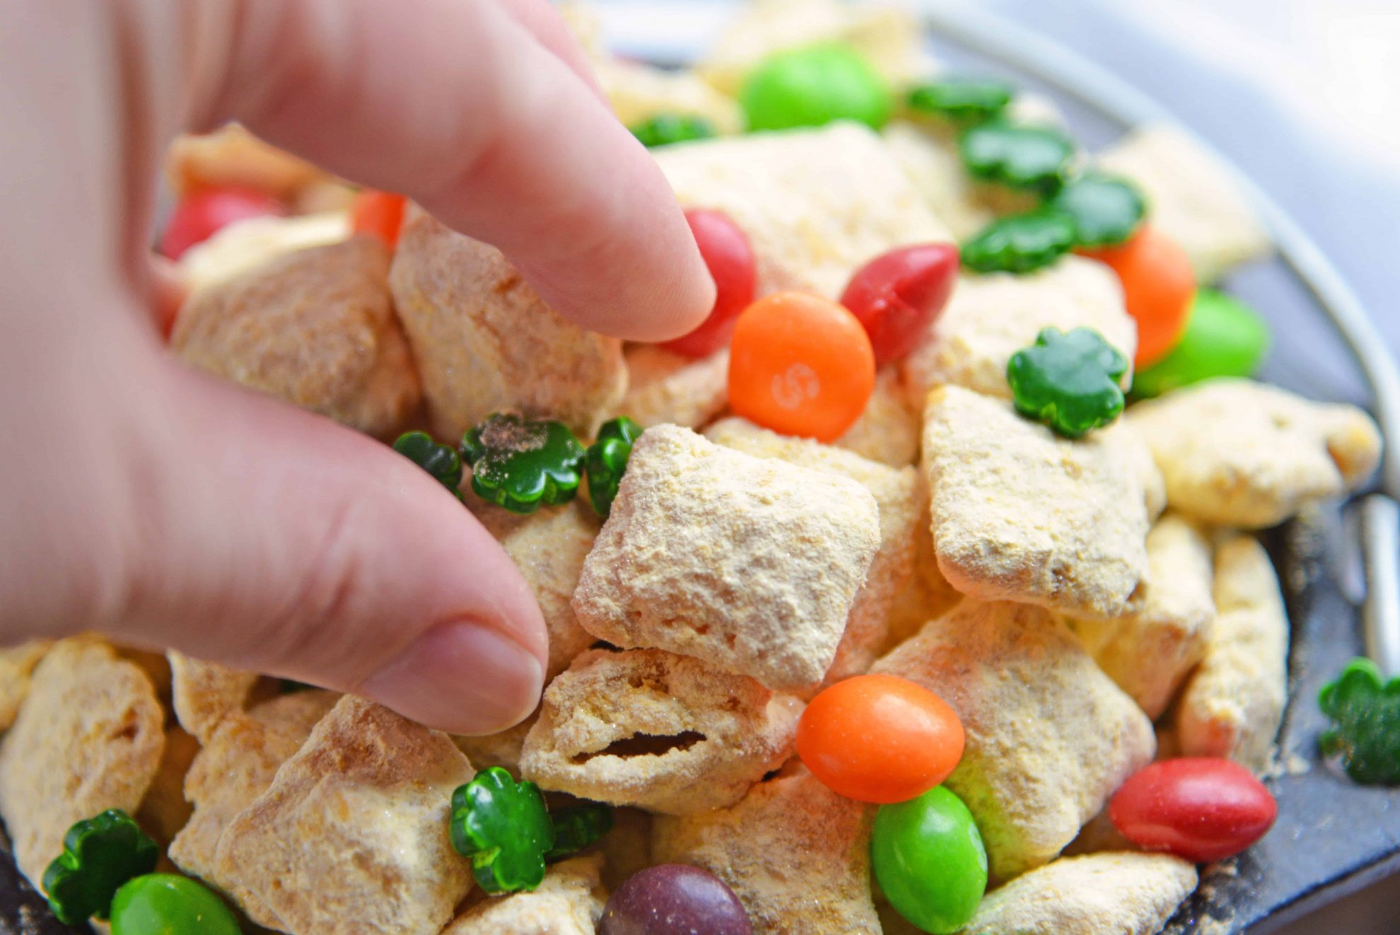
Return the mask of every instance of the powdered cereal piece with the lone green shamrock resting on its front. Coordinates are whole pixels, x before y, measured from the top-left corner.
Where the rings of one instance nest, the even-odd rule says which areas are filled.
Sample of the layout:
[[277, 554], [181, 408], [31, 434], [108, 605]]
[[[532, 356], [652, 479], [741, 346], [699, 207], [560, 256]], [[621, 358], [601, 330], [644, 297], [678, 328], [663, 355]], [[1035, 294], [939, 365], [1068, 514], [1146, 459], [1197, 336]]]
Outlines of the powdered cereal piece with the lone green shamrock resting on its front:
[[[904, 358], [910, 399], [952, 384], [1011, 399], [1007, 364], [1035, 344], [1044, 328], [1092, 328], [1133, 360], [1137, 325], [1123, 307], [1123, 287], [1103, 263], [1067, 256], [1036, 273], [966, 274], [958, 279], [942, 315]], [[1123, 375], [1127, 388], [1133, 377]]]

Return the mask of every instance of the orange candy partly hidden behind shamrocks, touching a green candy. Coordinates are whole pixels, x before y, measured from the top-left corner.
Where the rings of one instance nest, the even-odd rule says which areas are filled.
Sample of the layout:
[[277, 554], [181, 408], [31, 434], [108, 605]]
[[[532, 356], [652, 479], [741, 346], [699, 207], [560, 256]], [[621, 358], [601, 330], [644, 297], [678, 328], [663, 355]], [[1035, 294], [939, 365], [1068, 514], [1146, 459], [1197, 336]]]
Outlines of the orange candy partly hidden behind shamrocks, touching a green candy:
[[1084, 255], [1107, 263], [1123, 283], [1128, 315], [1138, 325], [1133, 365], [1141, 370], [1166, 357], [1186, 330], [1196, 295], [1196, 273], [1182, 245], [1144, 224], [1127, 244]]

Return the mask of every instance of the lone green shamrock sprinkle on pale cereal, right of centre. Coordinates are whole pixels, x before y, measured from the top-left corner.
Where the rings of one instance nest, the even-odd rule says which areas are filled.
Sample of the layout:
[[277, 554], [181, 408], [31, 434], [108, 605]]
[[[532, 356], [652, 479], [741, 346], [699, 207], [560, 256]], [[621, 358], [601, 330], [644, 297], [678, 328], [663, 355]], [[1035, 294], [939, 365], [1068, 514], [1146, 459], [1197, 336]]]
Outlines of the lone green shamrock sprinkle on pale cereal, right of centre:
[[1046, 328], [1036, 343], [1011, 356], [1007, 382], [1016, 412], [1065, 438], [1082, 438], [1123, 412], [1119, 381], [1128, 358], [1092, 328], [1065, 335]]

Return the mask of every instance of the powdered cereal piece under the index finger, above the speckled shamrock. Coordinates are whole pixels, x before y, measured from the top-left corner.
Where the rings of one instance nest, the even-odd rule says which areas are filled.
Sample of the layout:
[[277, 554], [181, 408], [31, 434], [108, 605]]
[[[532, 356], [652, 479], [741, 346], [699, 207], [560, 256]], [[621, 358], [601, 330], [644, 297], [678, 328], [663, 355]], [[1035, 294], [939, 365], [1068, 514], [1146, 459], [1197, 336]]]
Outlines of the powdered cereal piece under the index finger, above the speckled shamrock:
[[410, 209], [389, 286], [441, 438], [503, 410], [591, 437], [622, 402], [622, 343], [561, 318], [494, 246]]

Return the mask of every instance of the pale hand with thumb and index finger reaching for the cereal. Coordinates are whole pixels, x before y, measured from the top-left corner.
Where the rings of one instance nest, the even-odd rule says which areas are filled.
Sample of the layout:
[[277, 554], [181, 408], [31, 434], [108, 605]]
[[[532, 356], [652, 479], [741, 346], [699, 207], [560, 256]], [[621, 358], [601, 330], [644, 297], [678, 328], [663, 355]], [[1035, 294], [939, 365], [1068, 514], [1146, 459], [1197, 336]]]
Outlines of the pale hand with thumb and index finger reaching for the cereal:
[[486, 733], [539, 609], [384, 445], [174, 361], [160, 158], [237, 119], [500, 246], [560, 314], [661, 340], [714, 301], [546, 0], [0, 3], [0, 642], [101, 631]]

